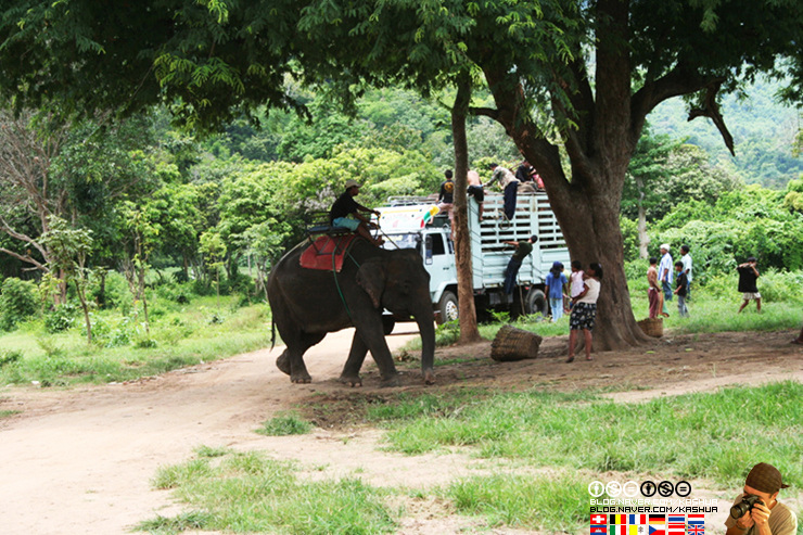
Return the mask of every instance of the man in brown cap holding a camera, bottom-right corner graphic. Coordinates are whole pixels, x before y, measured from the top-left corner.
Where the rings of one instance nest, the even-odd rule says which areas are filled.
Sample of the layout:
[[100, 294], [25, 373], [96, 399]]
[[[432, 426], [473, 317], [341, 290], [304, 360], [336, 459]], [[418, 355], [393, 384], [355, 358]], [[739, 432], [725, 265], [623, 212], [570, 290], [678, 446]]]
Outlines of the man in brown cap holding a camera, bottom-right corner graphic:
[[763, 504], [756, 501], [738, 519], [728, 515], [725, 535], [794, 535], [798, 517], [777, 499], [778, 491], [788, 486], [774, 466], [766, 462], [754, 466], [744, 482], [744, 493], [736, 498], [734, 505], [741, 502], [747, 495], [757, 496]]

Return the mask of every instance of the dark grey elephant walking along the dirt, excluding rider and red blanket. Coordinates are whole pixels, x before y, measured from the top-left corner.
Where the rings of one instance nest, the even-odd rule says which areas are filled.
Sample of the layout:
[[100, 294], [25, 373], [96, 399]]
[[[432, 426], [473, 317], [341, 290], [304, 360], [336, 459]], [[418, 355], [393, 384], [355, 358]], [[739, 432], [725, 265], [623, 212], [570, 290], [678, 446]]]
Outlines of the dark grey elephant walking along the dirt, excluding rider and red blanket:
[[355, 328], [352, 348], [340, 377], [341, 382], [361, 386], [359, 371], [371, 352], [383, 386], [399, 385], [398, 372], [385, 342], [387, 322], [383, 309], [395, 318], [412, 317], [421, 334], [421, 370], [426, 384], [435, 373], [434, 313], [430, 276], [421, 255], [413, 250], [388, 251], [362, 238], [355, 238], [340, 272], [301, 267], [306, 249], [302, 242], [285, 254], [268, 278], [268, 302], [276, 329], [286, 344], [277, 367], [294, 383], [311, 381], [304, 353], [327, 335]]

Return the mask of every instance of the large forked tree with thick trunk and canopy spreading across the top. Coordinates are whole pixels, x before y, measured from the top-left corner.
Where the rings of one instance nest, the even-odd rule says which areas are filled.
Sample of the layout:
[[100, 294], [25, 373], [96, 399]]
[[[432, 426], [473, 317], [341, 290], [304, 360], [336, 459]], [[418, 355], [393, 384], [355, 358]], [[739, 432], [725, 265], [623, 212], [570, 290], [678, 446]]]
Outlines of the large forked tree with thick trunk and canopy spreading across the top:
[[[725, 129], [717, 94], [761, 73], [803, 98], [796, 0], [459, 2], [17, 0], [0, 15], [0, 89], [18, 105], [59, 97], [81, 110], [163, 99], [211, 127], [260, 105], [294, 107], [286, 76], [426, 93], [467, 60], [500, 123], [544, 178], [572, 255], [599, 260], [600, 348], [646, 340], [629, 306], [619, 229], [627, 166], [647, 114], [678, 95]], [[560, 147], [565, 149], [564, 165]]]

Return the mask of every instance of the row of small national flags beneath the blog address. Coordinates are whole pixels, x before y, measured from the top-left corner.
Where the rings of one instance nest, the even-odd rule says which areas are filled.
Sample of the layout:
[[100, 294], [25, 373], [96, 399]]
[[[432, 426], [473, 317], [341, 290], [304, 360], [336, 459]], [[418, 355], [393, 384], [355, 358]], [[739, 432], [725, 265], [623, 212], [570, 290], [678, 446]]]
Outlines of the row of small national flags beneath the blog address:
[[591, 535], [705, 535], [704, 514], [591, 514]]

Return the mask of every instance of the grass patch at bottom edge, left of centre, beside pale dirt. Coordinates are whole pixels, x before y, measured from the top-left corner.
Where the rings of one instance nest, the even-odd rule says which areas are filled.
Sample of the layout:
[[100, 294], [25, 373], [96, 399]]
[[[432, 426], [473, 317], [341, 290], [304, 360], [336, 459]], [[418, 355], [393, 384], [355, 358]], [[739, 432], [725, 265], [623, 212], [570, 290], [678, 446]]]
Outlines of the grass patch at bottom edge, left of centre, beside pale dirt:
[[[197, 460], [197, 459], [196, 459]], [[203, 530], [239, 533], [372, 534], [396, 530], [384, 495], [358, 479], [302, 482], [293, 467], [259, 453], [230, 453], [208, 469], [173, 472], [176, 497], [188, 504]], [[181, 517], [181, 515], [180, 515]], [[181, 519], [155, 519], [140, 531], [181, 525]], [[165, 531], [164, 533], [175, 533]]]

